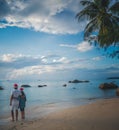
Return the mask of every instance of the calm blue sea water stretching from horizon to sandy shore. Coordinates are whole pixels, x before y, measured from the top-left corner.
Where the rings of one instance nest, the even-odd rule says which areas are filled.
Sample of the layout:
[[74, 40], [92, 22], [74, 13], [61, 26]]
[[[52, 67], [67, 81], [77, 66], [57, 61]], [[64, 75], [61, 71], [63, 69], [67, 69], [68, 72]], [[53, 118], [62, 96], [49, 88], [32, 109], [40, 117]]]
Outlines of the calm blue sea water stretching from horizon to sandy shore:
[[[0, 86], [4, 88], [4, 90], [0, 90], [0, 119], [10, 115], [9, 101], [14, 83], [17, 83], [19, 87], [23, 84], [31, 86], [24, 88], [27, 96], [26, 108], [29, 111], [32, 110], [30, 108], [35, 108], [37, 111], [39, 106], [41, 112], [47, 113], [48, 110], [53, 110], [53, 108], [82, 105], [97, 99], [116, 97], [115, 90], [101, 90], [99, 85], [104, 82], [114, 82], [119, 86], [119, 80], [94, 79], [89, 81], [86, 83], [69, 83], [68, 80], [0, 81]], [[67, 84], [67, 86], [64, 87], [64, 84]], [[38, 85], [47, 86], [38, 87]]]

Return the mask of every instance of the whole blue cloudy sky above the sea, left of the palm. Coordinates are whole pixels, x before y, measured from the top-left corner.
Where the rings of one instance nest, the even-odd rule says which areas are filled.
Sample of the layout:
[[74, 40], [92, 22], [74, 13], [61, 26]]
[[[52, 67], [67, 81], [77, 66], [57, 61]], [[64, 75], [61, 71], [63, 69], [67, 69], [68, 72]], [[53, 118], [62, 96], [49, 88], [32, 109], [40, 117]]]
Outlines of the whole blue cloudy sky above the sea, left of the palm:
[[119, 76], [119, 60], [83, 39], [80, 0], [0, 0], [0, 80]]

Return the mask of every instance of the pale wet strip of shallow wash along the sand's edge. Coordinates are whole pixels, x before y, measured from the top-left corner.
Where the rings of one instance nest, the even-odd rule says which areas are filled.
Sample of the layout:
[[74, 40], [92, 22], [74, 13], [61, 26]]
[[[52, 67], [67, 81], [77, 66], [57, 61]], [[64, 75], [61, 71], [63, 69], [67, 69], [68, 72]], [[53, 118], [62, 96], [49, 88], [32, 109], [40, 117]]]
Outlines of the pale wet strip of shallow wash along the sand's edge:
[[[52, 112], [61, 111], [63, 109], [68, 109], [72, 107], [79, 107], [88, 105], [90, 103], [94, 103], [104, 99], [113, 99], [115, 97], [108, 98], [82, 98], [75, 99], [73, 101], [65, 101], [65, 102], [52, 102], [48, 104], [37, 104], [37, 105], [28, 105], [25, 108], [26, 120], [32, 121], [39, 119], [39, 117], [44, 117]], [[6, 123], [10, 123], [11, 121], [11, 113], [10, 110], [0, 117], [0, 125], [6, 125]], [[19, 121], [20, 119], [20, 110], [19, 110]]]

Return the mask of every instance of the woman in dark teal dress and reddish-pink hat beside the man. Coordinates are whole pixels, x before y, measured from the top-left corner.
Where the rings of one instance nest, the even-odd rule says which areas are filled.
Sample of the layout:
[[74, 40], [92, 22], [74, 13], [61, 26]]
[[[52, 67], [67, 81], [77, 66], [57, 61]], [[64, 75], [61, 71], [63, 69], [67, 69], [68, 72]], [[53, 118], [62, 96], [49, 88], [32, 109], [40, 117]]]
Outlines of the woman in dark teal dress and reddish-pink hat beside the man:
[[21, 111], [21, 118], [25, 119], [26, 95], [25, 95], [23, 90], [24, 90], [23, 88], [20, 88], [21, 96], [20, 96], [20, 99], [19, 99], [19, 108], [20, 108], [20, 111]]

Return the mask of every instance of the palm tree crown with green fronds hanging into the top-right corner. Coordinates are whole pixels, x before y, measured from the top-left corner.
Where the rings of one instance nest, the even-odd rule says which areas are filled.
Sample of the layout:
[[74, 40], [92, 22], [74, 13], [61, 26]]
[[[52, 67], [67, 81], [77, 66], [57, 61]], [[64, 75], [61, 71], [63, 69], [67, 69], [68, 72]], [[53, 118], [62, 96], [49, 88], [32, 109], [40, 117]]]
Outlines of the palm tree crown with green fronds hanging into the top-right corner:
[[114, 0], [82, 0], [84, 9], [77, 13], [78, 21], [82, 17], [89, 20], [84, 29], [84, 38], [97, 32], [97, 43], [107, 48], [119, 43], [119, 1]]

